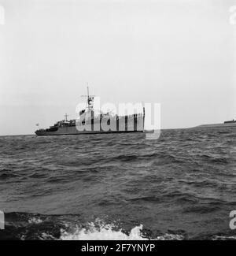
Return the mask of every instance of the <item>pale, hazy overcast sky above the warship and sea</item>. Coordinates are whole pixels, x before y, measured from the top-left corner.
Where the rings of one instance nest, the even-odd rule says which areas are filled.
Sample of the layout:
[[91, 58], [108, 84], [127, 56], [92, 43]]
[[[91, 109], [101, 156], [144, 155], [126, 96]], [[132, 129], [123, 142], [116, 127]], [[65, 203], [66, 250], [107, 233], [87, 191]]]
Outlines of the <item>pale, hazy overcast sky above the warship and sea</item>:
[[87, 83], [102, 103], [160, 103], [161, 128], [236, 119], [231, 6], [0, 0], [0, 135], [33, 134], [35, 124], [47, 128], [65, 113], [76, 118]]

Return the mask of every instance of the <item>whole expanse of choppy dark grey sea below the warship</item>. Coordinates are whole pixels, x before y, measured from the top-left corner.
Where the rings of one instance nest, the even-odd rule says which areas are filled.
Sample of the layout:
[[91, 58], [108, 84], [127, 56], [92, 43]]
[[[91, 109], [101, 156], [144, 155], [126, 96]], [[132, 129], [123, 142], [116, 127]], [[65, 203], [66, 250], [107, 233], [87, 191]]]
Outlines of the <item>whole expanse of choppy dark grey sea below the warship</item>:
[[0, 239], [236, 239], [236, 129], [0, 137]]

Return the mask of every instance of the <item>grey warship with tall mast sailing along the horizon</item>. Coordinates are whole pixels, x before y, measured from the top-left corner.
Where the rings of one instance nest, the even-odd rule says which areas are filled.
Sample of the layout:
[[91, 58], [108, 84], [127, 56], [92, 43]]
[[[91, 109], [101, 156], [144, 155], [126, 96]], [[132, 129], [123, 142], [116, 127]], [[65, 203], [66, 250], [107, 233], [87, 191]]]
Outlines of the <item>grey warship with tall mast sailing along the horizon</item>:
[[[99, 133], [144, 132], [145, 108], [142, 113], [118, 116], [112, 113], [98, 113], [94, 111], [94, 95], [89, 94], [87, 87], [87, 103], [85, 109], [79, 111], [77, 119], [65, 119], [46, 129], [38, 129], [35, 134], [45, 135], [82, 135]], [[39, 126], [39, 124], [36, 124]]]

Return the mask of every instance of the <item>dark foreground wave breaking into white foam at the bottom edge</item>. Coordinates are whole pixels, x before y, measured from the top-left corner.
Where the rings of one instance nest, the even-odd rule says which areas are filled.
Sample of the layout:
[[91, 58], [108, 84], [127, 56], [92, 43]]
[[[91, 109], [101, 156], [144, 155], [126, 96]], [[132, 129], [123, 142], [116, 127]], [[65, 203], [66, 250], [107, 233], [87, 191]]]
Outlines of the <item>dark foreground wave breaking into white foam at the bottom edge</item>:
[[182, 240], [183, 234], [146, 235], [143, 224], [127, 230], [117, 221], [106, 223], [101, 218], [79, 221], [79, 216], [41, 215], [35, 213], [6, 213], [6, 229], [0, 232], [5, 239], [53, 240]]

